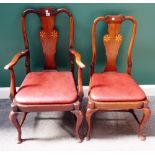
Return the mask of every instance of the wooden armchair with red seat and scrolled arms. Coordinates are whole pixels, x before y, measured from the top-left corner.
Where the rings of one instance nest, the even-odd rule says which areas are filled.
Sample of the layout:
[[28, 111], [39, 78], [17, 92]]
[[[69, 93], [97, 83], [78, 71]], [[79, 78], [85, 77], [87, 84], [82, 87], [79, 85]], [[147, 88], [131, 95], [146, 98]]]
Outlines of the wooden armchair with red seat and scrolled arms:
[[[26, 32], [26, 16], [30, 13], [39, 16], [41, 30], [39, 38], [43, 48], [44, 70], [41, 72], [31, 72], [30, 69], [30, 49]], [[70, 19], [70, 39], [69, 54], [71, 71], [57, 71], [55, 63], [56, 44], [58, 32], [55, 29], [55, 18], [58, 14], [65, 13]], [[79, 142], [79, 128], [83, 115], [80, 110], [80, 102], [83, 97], [82, 89], [82, 69], [85, 65], [81, 62], [80, 54], [73, 49], [74, 39], [74, 20], [72, 14], [64, 9], [41, 8], [28, 9], [22, 14], [22, 32], [25, 50], [14, 56], [12, 61], [5, 66], [10, 70], [10, 97], [12, 100], [12, 111], [9, 118], [18, 131], [18, 143], [22, 142], [21, 127], [29, 112], [48, 112], [48, 111], [70, 111], [76, 118], [75, 134]], [[25, 58], [26, 77], [20, 88], [16, 91], [16, 79], [14, 66], [22, 58]], [[74, 79], [74, 58], [78, 66], [78, 86]], [[69, 81], [69, 82], [68, 82]], [[19, 123], [17, 115], [22, 113]]]

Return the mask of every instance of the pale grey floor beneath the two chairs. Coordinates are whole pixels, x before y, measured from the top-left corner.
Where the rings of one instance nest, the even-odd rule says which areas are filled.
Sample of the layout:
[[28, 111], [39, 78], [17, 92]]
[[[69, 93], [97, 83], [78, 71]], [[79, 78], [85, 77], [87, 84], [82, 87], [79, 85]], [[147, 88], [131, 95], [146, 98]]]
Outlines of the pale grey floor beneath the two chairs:
[[[155, 150], [155, 97], [149, 97], [152, 115], [147, 123], [146, 141], [136, 134], [137, 123], [129, 113], [98, 113], [93, 119], [92, 139], [77, 143], [74, 118], [70, 113], [30, 113], [23, 125], [22, 144], [8, 119], [10, 101], [0, 100], [0, 150]], [[83, 101], [83, 108], [86, 105]], [[141, 114], [138, 113], [141, 117]], [[85, 132], [85, 125], [82, 126]]]

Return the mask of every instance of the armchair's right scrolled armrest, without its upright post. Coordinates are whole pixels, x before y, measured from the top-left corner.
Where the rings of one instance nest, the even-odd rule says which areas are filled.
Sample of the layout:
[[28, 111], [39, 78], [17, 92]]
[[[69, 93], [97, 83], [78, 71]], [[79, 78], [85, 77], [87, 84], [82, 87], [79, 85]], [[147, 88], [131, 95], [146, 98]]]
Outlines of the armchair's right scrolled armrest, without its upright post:
[[77, 51], [75, 51], [74, 49], [70, 49], [70, 53], [72, 55], [74, 55], [75, 61], [76, 61], [76, 64], [78, 65], [78, 67], [80, 67], [82, 69], [85, 68], [85, 65], [81, 62], [80, 54]]

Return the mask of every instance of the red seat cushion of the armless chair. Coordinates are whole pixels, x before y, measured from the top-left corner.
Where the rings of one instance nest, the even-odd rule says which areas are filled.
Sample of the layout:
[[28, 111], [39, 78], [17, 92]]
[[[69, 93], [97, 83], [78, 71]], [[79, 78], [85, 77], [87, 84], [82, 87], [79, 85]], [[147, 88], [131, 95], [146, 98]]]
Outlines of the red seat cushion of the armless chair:
[[146, 96], [129, 74], [105, 72], [93, 74], [90, 98], [94, 101], [141, 101]]

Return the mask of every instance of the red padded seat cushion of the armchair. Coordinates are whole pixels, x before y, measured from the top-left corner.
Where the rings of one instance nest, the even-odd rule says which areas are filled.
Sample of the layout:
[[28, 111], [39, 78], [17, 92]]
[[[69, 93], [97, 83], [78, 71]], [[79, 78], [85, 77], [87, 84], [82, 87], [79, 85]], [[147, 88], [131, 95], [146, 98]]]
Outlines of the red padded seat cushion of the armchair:
[[57, 71], [27, 74], [15, 96], [20, 104], [67, 104], [76, 99], [72, 73]]

